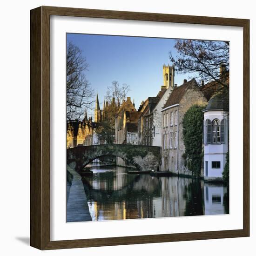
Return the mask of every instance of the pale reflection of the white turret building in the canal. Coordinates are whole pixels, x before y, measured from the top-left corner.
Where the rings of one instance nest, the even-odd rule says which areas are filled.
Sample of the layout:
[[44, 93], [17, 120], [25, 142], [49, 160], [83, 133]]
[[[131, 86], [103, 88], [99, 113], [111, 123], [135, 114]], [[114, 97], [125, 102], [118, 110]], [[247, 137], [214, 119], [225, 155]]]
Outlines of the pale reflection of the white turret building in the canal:
[[226, 214], [223, 198], [227, 188], [223, 185], [204, 184], [204, 207], [205, 215]]

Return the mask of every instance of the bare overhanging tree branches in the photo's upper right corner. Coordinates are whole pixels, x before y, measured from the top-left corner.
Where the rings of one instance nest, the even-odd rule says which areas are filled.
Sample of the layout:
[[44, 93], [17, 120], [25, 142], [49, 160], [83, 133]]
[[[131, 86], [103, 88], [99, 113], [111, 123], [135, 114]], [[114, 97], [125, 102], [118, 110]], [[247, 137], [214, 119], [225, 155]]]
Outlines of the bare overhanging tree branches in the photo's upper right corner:
[[193, 73], [198, 82], [216, 81], [228, 86], [228, 80], [220, 75], [220, 67], [229, 69], [229, 42], [176, 40], [174, 48], [175, 56], [173, 51], [169, 57], [178, 73]]

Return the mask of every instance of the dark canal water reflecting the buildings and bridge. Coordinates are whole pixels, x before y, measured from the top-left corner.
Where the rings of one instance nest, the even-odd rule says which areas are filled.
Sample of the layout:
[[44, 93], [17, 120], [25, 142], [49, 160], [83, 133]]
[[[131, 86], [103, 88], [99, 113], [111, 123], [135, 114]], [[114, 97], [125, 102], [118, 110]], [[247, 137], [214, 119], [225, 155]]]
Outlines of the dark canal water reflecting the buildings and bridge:
[[93, 221], [229, 213], [222, 184], [181, 177], [128, 174], [128, 168], [91, 165], [82, 182]]

